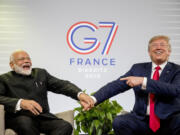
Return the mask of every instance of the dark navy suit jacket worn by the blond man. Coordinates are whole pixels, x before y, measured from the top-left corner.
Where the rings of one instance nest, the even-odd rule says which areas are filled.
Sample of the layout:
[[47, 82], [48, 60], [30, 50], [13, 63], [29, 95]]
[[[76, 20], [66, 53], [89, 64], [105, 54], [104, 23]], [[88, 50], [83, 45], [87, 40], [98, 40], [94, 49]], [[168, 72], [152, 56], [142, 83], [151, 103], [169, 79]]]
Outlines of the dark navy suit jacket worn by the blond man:
[[[180, 66], [168, 62], [158, 81], [151, 79], [151, 72], [151, 62], [139, 63], [134, 64], [125, 75], [120, 77], [147, 77], [146, 90], [142, 90], [142, 86], [133, 87], [135, 104], [132, 112], [139, 118], [143, 118], [146, 115], [148, 94], [154, 93], [156, 95], [155, 113], [160, 119], [166, 119], [175, 113], [180, 113]], [[108, 83], [94, 94], [97, 104], [131, 89], [126, 81], [120, 81], [120, 78]]]

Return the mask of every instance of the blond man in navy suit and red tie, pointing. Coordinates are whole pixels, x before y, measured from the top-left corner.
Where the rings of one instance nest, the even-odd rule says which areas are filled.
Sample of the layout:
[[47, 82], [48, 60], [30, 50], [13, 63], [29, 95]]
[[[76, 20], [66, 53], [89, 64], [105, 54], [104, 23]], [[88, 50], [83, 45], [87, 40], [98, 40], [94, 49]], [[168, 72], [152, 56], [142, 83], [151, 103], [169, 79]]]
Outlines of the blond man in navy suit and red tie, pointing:
[[[180, 66], [169, 62], [169, 37], [150, 39], [151, 62], [134, 64], [131, 69], [94, 94], [94, 103], [134, 90], [131, 113], [113, 121], [116, 135], [180, 135]], [[86, 106], [85, 109], [90, 109]]]

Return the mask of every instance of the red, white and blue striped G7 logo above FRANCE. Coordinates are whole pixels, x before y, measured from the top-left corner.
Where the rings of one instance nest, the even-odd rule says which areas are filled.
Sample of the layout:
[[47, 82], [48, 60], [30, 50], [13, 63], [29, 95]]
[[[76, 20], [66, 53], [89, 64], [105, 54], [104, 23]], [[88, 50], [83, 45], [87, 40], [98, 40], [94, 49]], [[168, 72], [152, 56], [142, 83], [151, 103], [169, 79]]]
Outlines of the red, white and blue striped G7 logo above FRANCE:
[[100, 41], [94, 37], [85, 37], [84, 44], [90, 44], [90, 47], [82, 48], [78, 46], [74, 42], [74, 34], [80, 28], [87, 28], [92, 32], [95, 32], [96, 30], [98, 30], [98, 28], [111, 28], [101, 54], [107, 55], [109, 53], [109, 50], [111, 48], [112, 42], [118, 29], [118, 25], [115, 22], [99, 22], [99, 27], [91, 22], [78, 22], [69, 28], [66, 38], [69, 47], [78, 54], [90, 54], [98, 49], [98, 47], [100, 46]]

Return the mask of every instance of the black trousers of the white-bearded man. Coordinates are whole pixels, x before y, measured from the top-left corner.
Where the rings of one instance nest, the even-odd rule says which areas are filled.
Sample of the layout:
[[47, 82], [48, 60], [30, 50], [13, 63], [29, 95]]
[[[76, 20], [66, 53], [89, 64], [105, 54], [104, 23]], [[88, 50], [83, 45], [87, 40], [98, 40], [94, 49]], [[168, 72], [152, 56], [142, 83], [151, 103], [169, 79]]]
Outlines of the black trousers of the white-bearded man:
[[73, 130], [71, 124], [63, 119], [27, 115], [6, 118], [6, 128], [13, 129], [18, 135], [71, 135]]

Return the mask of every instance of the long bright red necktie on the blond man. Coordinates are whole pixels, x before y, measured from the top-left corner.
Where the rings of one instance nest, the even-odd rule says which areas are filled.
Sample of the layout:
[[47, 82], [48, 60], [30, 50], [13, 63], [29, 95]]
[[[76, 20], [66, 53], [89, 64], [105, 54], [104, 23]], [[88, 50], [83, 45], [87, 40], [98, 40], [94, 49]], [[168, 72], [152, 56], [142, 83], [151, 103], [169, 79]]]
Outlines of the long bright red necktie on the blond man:
[[[159, 70], [161, 69], [159, 66], [155, 68], [155, 72], [153, 74], [153, 80], [159, 80]], [[156, 132], [160, 128], [160, 119], [154, 113], [154, 101], [155, 95], [150, 93], [150, 116], [149, 116], [149, 127], [153, 132]]]

